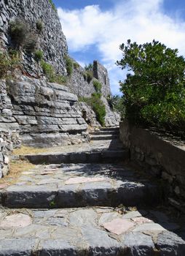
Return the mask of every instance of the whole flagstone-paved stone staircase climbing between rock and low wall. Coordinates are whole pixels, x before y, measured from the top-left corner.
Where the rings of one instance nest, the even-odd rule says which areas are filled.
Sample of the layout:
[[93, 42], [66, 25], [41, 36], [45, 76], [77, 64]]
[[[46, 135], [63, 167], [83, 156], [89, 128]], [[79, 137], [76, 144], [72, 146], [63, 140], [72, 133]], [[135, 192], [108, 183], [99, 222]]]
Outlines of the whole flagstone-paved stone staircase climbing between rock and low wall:
[[162, 205], [159, 183], [107, 139], [117, 129], [91, 135], [90, 148], [19, 157], [34, 167], [0, 184], [0, 256], [184, 256], [184, 217]]

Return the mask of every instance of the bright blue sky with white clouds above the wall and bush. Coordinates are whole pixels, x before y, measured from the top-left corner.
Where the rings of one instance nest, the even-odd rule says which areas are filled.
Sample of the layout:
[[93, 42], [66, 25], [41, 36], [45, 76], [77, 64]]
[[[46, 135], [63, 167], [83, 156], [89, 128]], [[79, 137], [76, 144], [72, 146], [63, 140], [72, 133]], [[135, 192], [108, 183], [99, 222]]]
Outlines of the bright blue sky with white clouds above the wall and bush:
[[109, 70], [111, 91], [119, 94], [125, 79], [115, 62], [122, 58], [119, 45], [127, 39], [138, 43], [153, 39], [185, 55], [184, 0], [53, 0], [69, 54], [79, 64], [97, 59]]

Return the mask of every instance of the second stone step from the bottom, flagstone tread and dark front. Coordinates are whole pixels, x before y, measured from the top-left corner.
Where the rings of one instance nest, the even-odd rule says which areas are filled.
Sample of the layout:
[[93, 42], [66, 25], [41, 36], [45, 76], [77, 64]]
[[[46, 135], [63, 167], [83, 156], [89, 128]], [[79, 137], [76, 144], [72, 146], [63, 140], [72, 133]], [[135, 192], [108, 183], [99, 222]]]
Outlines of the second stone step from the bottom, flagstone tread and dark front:
[[122, 165], [37, 165], [1, 189], [9, 208], [154, 205], [162, 189]]

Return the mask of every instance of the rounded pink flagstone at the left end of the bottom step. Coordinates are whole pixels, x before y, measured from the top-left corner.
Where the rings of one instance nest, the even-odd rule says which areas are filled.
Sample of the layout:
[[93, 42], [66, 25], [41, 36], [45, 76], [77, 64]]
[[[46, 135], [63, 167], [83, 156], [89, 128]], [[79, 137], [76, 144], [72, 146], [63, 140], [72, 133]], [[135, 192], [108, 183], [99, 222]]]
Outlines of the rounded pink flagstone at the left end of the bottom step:
[[31, 217], [26, 214], [11, 214], [0, 222], [0, 228], [27, 227], [31, 223]]

